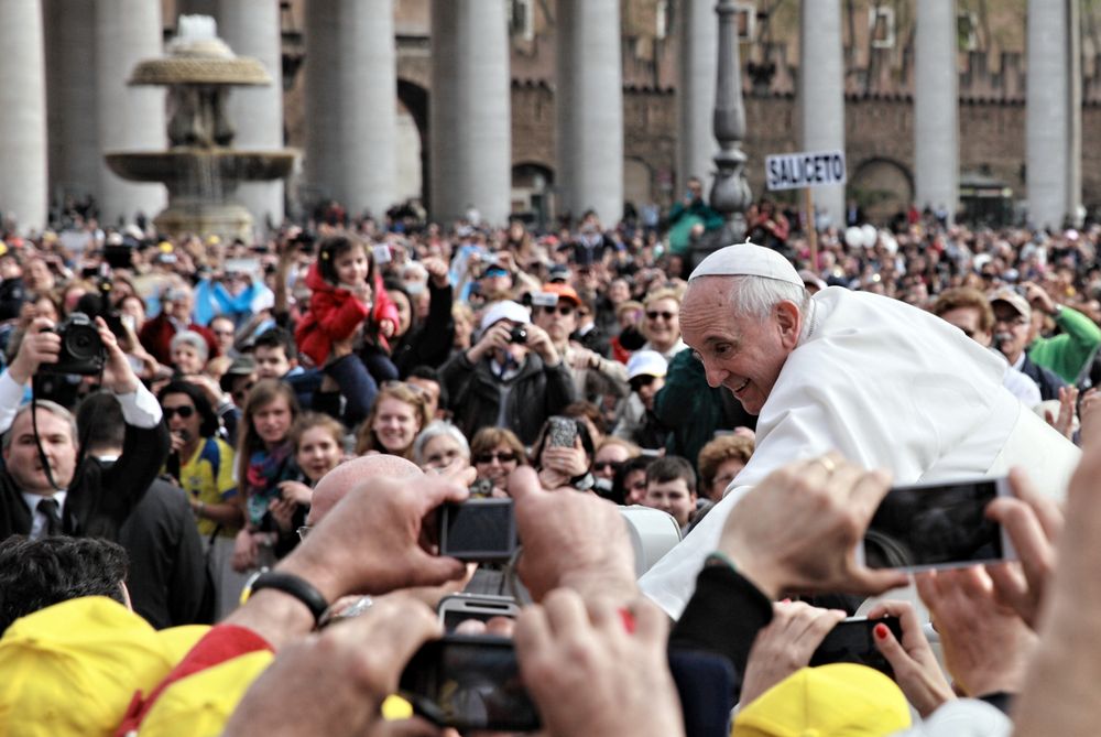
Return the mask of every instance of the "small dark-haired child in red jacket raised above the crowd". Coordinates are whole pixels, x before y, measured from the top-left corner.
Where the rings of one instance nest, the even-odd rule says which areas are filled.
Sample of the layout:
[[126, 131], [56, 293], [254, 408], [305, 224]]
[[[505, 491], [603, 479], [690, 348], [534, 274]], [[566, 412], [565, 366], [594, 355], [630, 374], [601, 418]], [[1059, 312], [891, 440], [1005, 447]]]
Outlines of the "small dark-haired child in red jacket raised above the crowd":
[[397, 307], [382, 288], [371, 252], [359, 240], [333, 236], [317, 245], [317, 261], [306, 274], [313, 291], [309, 310], [294, 332], [298, 349], [323, 367], [334, 344], [355, 340], [353, 349], [378, 382], [397, 378], [386, 338], [397, 327]]

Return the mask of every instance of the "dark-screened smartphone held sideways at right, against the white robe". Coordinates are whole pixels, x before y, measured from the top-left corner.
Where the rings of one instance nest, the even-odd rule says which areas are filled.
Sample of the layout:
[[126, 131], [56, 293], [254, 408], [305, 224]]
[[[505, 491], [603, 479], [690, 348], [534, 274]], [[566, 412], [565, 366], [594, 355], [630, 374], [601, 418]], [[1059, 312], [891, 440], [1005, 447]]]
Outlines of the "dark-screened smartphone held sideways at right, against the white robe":
[[895, 487], [875, 510], [858, 561], [927, 571], [1014, 560], [1005, 531], [985, 517], [986, 505], [1009, 495], [1005, 478]]

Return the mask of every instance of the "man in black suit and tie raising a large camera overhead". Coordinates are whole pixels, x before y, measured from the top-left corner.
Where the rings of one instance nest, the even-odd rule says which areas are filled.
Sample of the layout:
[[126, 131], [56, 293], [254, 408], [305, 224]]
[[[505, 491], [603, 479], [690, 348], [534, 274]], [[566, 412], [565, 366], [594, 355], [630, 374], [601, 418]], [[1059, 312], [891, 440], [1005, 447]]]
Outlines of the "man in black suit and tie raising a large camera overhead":
[[74, 534], [115, 540], [167, 457], [168, 431], [160, 404], [134, 376], [101, 318], [96, 319], [106, 357], [101, 383], [118, 398], [127, 423], [118, 463], [103, 470], [83, 458], [73, 415], [61, 405], [39, 402], [32, 418], [31, 405], [20, 407], [26, 384], [41, 366], [57, 364], [63, 354], [63, 336], [53, 328], [51, 321], [35, 319], [15, 360], [0, 376], [0, 429], [10, 427], [0, 470], [0, 539]]

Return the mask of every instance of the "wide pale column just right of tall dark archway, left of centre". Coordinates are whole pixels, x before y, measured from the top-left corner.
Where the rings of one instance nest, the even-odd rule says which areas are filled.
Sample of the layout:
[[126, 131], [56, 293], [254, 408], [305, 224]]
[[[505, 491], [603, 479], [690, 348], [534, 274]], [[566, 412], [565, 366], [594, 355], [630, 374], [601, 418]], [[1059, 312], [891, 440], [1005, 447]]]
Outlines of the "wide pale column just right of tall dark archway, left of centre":
[[511, 212], [512, 105], [509, 26], [502, 0], [432, 3], [428, 101], [433, 217], [475, 207], [503, 224]]

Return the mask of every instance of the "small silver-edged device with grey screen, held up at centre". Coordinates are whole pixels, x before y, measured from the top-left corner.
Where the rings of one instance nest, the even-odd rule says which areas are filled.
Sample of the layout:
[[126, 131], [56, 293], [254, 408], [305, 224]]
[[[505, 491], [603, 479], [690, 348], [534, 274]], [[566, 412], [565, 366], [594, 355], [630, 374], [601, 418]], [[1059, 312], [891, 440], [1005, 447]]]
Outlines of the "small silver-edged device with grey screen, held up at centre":
[[519, 544], [512, 499], [468, 499], [442, 508], [440, 555], [476, 563], [506, 562]]

